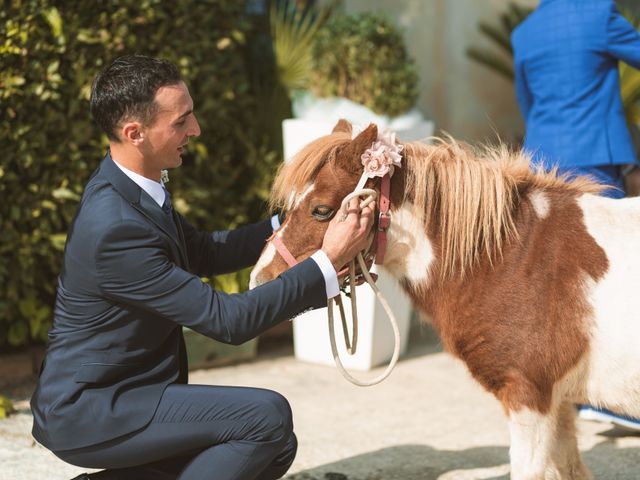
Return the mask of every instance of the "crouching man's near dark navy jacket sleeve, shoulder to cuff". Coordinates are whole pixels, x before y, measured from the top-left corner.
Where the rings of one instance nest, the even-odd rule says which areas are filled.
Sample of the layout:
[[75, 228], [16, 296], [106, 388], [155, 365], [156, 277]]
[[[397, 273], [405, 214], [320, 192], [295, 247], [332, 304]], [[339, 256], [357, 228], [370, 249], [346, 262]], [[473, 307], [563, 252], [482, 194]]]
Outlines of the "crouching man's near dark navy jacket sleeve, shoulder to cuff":
[[164, 242], [136, 222], [109, 228], [95, 255], [102, 294], [235, 345], [304, 310], [327, 304], [324, 277], [312, 259], [253, 290], [228, 295], [177, 267]]

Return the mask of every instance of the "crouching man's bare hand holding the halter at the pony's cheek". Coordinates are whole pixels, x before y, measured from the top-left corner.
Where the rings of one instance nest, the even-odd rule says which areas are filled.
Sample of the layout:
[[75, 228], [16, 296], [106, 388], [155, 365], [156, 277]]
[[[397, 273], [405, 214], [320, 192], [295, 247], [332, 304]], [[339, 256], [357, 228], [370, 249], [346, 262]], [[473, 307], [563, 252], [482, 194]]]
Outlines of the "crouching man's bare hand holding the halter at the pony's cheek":
[[369, 246], [369, 231], [373, 225], [375, 202], [360, 210], [360, 200], [354, 198], [349, 202], [347, 218], [342, 220], [338, 212], [329, 223], [324, 234], [322, 251], [339, 272], [342, 267], [355, 258], [361, 250]]

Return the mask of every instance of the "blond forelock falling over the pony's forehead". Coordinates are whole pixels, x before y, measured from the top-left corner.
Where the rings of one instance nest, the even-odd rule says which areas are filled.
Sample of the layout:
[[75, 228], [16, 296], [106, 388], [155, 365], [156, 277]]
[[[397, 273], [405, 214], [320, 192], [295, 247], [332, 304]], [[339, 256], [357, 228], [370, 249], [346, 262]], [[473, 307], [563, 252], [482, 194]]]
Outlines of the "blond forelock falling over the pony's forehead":
[[290, 162], [278, 169], [269, 198], [269, 207], [280, 210], [290, 207], [292, 194], [301, 193], [318, 171], [330, 160], [331, 153], [351, 141], [351, 134], [334, 132], [309, 143]]

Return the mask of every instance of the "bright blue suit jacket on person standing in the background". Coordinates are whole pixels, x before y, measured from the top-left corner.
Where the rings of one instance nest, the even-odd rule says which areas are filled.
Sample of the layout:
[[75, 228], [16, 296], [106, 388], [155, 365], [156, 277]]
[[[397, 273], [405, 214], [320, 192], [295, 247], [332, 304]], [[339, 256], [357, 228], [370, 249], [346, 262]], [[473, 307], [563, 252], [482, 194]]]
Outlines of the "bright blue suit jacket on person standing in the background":
[[511, 39], [534, 160], [565, 168], [637, 161], [618, 60], [640, 68], [640, 35], [612, 0], [542, 0]]

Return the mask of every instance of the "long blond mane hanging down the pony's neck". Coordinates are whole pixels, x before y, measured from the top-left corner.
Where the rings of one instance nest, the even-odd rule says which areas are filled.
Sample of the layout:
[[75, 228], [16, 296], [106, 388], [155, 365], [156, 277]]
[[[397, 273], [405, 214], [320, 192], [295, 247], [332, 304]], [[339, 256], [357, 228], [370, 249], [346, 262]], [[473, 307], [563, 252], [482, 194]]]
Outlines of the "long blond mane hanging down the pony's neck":
[[451, 137], [432, 145], [405, 144], [405, 201], [424, 225], [435, 225], [442, 247], [443, 277], [463, 276], [482, 256], [493, 261], [508, 239], [517, 238], [514, 205], [526, 187], [575, 193], [602, 190], [586, 178], [531, 169], [531, 158], [506, 145], [473, 148]]

